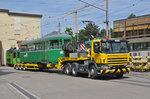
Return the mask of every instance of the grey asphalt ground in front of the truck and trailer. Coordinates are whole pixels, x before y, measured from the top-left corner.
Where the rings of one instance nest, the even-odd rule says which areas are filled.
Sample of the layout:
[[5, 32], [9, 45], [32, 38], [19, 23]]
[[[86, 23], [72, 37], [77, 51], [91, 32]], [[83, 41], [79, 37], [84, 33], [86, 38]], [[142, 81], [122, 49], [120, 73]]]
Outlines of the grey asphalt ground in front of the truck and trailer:
[[0, 99], [150, 99], [150, 72], [122, 79], [72, 77], [61, 71], [19, 71], [0, 67]]

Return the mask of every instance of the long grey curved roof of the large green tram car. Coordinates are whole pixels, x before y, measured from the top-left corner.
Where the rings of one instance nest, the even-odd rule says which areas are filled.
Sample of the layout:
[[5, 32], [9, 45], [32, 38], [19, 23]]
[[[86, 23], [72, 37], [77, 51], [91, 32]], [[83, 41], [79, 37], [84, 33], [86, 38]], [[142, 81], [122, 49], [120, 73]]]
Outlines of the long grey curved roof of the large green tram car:
[[37, 42], [37, 41], [43, 41], [43, 40], [47, 40], [47, 39], [52, 39], [52, 38], [71, 38], [71, 36], [67, 35], [67, 34], [50, 35], [50, 36], [42, 37], [42, 38], [39, 38], [39, 39], [24, 41], [24, 42], [21, 43], [21, 45], [25, 45], [25, 44], [32, 43], [32, 42]]

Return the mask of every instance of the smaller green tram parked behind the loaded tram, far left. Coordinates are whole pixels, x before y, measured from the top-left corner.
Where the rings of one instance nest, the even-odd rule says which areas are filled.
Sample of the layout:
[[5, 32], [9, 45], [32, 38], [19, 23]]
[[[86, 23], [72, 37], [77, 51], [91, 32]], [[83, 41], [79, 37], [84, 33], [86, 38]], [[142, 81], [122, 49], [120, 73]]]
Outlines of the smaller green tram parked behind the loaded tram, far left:
[[20, 63], [20, 50], [10, 48], [6, 52], [6, 64], [8, 66], [13, 66], [16, 63]]

